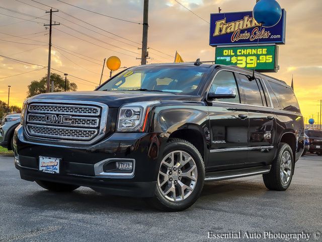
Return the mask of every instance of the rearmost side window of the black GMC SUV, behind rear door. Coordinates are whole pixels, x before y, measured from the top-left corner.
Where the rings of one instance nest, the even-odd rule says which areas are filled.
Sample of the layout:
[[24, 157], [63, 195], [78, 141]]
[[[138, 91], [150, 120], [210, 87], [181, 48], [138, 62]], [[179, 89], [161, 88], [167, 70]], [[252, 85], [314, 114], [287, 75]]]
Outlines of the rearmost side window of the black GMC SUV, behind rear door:
[[291, 88], [285, 87], [275, 82], [269, 83], [271, 84], [271, 87], [275, 93], [281, 109], [300, 112], [300, 107]]

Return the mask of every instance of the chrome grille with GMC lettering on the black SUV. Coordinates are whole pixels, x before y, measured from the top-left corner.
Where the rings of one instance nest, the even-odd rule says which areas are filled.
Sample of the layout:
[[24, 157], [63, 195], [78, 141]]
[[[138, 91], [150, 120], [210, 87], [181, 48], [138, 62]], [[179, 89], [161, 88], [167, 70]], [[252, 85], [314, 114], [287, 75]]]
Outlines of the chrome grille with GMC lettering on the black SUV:
[[107, 105], [91, 101], [32, 100], [25, 133], [39, 141], [91, 144], [105, 134], [107, 110]]

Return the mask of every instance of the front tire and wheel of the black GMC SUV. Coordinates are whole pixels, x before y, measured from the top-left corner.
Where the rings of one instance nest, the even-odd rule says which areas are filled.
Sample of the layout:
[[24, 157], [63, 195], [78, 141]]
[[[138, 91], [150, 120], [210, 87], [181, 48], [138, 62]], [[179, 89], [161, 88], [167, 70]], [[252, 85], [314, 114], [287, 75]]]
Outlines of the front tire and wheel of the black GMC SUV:
[[150, 199], [155, 208], [168, 212], [183, 211], [199, 198], [204, 185], [205, 166], [198, 149], [188, 141], [171, 139], [157, 172], [154, 197]]

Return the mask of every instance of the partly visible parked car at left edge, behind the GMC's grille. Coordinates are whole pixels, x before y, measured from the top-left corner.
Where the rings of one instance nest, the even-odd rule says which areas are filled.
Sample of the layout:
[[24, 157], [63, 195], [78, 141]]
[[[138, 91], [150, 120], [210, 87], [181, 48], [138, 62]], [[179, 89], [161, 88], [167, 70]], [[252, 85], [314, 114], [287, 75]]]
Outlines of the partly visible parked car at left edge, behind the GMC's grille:
[[13, 149], [14, 131], [20, 124], [20, 113], [9, 114], [1, 120], [0, 146]]

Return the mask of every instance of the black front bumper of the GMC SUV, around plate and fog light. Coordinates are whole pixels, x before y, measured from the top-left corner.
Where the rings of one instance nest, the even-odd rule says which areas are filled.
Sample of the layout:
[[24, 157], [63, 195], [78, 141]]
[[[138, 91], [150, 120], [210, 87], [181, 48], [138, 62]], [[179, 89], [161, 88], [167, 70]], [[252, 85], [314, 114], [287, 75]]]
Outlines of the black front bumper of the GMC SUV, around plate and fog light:
[[[26, 140], [22, 127], [14, 138], [15, 165], [22, 179], [48, 180], [85, 186], [95, 191], [131, 197], [152, 197], [156, 187], [158, 154], [164, 140], [155, 133], [115, 133], [96, 145], [72, 147]], [[61, 159], [59, 174], [38, 170], [39, 156]], [[135, 160], [133, 175], [100, 175], [95, 164], [107, 159]]]

